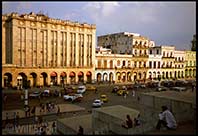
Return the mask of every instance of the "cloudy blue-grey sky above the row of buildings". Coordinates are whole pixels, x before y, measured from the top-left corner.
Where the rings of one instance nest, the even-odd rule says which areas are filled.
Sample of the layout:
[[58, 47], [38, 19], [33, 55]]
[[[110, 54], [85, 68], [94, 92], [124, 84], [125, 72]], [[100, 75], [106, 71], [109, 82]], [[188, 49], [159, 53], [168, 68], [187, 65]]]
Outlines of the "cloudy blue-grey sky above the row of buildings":
[[51, 18], [96, 24], [96, 36], [139, 33], [156, 45], [190, 49], [196, 34], [196, 2], [59, 1], [2, 2], [2, 14], [42, 12]]

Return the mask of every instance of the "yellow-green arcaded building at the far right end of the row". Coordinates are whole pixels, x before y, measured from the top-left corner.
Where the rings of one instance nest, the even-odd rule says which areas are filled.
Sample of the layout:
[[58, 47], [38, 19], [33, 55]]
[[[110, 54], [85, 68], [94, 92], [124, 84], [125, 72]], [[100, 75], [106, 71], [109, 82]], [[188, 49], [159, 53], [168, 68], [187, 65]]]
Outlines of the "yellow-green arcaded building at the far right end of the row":
[[185, 51], [185, 77], [192, 79], [196, 77], [196, 52]]

